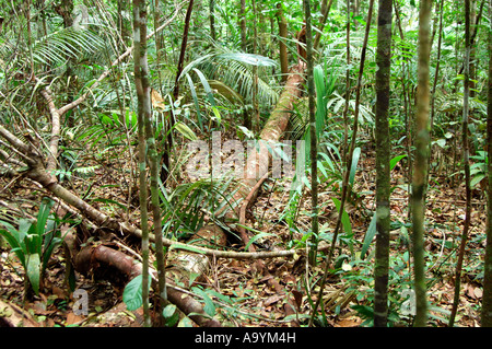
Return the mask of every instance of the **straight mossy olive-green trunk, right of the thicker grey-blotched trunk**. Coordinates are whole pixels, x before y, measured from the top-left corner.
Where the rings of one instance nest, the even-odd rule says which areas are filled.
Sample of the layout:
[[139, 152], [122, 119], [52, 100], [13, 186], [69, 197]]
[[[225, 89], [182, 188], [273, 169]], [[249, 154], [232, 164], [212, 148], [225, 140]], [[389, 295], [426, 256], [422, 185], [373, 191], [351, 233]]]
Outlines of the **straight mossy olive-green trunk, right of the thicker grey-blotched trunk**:
[[422, 0], [419, 13], [419, 86], [417, 89], [417, 137], [415, 162], [412, 183], [412, 222], [413, 222], [413, 263], [414, 263], [414, 291], [415, 318], [414, 326], [425, 326], [426, 296], [425, 296], [425, 264], [424, 264], [424, 191], [429, 156], [429, 60], [431, 51], [430, 18], [431, 0]]

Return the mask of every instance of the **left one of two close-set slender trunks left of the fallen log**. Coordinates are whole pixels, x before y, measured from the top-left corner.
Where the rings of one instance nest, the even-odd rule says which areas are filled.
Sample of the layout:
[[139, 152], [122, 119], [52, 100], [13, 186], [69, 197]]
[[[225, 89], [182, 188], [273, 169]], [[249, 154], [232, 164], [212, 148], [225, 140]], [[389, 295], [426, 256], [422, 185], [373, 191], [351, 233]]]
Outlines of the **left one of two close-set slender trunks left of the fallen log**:
[[138, 137], [139, 137], [139, 170], [140, 170], [140, 226], [142, 230], [142, 302], [144, 326], [151, 326], [149, 313], [149, 219], [147, 210], [147, 171], [145, 171], [145, 126], [144, 114], [150, 108], [150, 91], [144, 89], [142, 77], [147, 74], [141, 62], [147, 61], [145, 39], [142, 43], [142, 30], [145, 32], [145, 9], [141, 0], [133, 0], [133, 45], [134, 45], [134, 84], [138, 97]]

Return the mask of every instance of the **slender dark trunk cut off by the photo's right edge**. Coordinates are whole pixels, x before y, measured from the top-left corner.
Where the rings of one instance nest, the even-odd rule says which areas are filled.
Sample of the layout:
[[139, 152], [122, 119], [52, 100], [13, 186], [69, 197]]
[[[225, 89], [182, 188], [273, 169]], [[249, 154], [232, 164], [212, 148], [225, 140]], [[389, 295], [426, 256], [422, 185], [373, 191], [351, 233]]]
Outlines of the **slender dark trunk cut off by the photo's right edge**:
[[[492, 14], [492, 1], [489, 1], [489, 16]], [[492, 327], [492, 22], [489, 28], [489, 91], [487, 104], [487, 144], [489, 156], [489, 177], [487, 188], [487, 245], [483, 270], [483, 298], [481, 326]]]

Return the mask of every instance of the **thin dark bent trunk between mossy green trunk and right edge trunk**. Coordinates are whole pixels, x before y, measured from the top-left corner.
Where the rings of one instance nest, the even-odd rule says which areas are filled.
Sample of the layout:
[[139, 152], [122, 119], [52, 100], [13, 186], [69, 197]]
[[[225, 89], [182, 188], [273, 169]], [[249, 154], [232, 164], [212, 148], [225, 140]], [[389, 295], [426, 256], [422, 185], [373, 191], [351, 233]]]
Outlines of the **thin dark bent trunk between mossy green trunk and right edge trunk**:
[[461, 244], [459, 246], [458, 263], [456, 265], [455, 275], [455, 296], [453, 300], [452, 314], [449, 316], [449, 327], [455, 324], [456, 312], [459, 303], [459, 291], [461, 288], [461, 269], [462, 259], [465, 256], [465, 247], [468, 240], [468, 231], [470, 229], [471, 219], [471, 188], [470, 188], [470, 161], [469, 161], [469, 143], [468, 143], [468, 112], [470, 97], [470, 0], [465, 0], [465, 80], [464, 80], [464, 96], [462, 96], [462, 135], [461, 142], [464, 148], [464, 165], [465, 165], [465, 187], [466, 187], [466, 208], [465, 208], [465, 223], [461, 234]]

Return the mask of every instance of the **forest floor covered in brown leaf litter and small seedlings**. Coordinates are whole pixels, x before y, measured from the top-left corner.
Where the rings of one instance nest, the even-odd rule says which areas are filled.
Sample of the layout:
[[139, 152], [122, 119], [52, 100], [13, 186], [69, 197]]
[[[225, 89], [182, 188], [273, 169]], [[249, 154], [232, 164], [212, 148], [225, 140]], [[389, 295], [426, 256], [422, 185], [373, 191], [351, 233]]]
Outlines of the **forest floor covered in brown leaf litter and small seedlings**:
[[[394, 319], [394, 326], [411, 324], [411, 316], [402, 315], [401, 312], [402, 303], [406, 300], [402, 291], [411, 284], [408, 258], [410, 240], [408, 226], [405, 225], [405, 222], [408, 221], [408, 194], [406, 174], [402, 168], [402, 166], [397, 166], [391, 178], [394, 191], [390, 206], [394, 230], [391, 232], [389, 294], [391, 314], [399, 315], [399, 318], [390, 317]], [[97, 185], [106, 184], [107, 189], [105, 193], [97, 191], [96, 196], [117, 199], [110, 197], [110, 185], [114, 183], [110, 179], [112, 176], [104, 173], [107, 168], [103, 167], [99, 171]], [[109, 179], [104, 183], [103, 178]], [[354, 234], [353, 237], [348, 236], [343, 240], [339, 248], [339, 255], [345, 254], [349, 257], [344, 261], [340, 261], [341, 268], [327, 279], [324, 290], [326, 317], [323, 325], [325, 326], [361, 326], [365, 321], [364, 314], [367, 314], [367, 307], [372, 305], [374, 247], [371, 245], [370, 254], [365, 259], [361, 259], [358, 252], [375, 207], [374, 178], [374, 156], [370, 151], [363, 152], [352, 190], [354, 199], [347, 208]], [[456, 252], [460, 242], [465, 214], [465, 190], [462, 187], [457, 189], [449, 187], [449, 182], [447, 176], [436, 176], [427, 193], [425, 249], [427, 252], [427, 296], [431, 302], [429, 324], [437, 327], [446, 326], [447, 314], [453, 304]], [[286, 181], [267, 181], [248, 213], [247, 224], [249, 226], [272, 233], [267, 239], [257, 241], [258, 249], [262, 247], [285, 249], [290, 241], [301, 242], [303, 239], [300, 233], [291, 234], [288, 224], [278, 219], [289, 201], [289, 185], [290, 183]], [[7, 178], [0, 178], [0, 187], [8, 188], [0, 190], [0, 200], [16, 205], [26, 211], [33, 209], [33, 202], [36, 202], [39, 194], [43, 193], [27, 179], [10, 183]], [[77, 188], [77, 184], [73, 184], [73, 188]], [[319, 220], [321, 233], [332, 231], [336, 222], [337, 213], [331, 198], [338, 197], [338, 194], [335, 194], [333, 189], [336, 188], [332, 186], [321, 184], [319, 191], [323, 208]], [[119, 198], [124, 202], [126, 199]], [[484, 205], [483, 193], [473, 191], [472, 224], [464, 263], [456, 326], [475, 327], [480, 325], [485, 241]], [[296, 219], [296, 225], [301, 231], [307, 231], [311, 226], [309, 210], [309, 193], [305, 191]], [[321, 234], [321, 240], [326, 236], [329, 237], [329, 235]], [[351, 244], [353, 255], [349, 248]], [[285, 287], [288, 293], [297, 296], [297, 318], [302, 324], [307, 323], [306, 317], [311, 314], [309, 304], [318, 296], [319, 282], [316, 283], [316, 281], [319, 281], [324, 274], [323, 260], [318, 260], [320, 263], [317, 266], [308, 267], [305, 254], [302, 253], [291, 259], [266, 260], [270, 277], [277, 278]], [[256, 275], [251, 270], [251, 265], [250, 260], [239, 259], [211, 261], [210, 270], [202, 286], [215, 291], [215, 296], [213, 296], [213, 300], [218, 302], [215, 303], [215, 317], [226, 326], [289, 326], [292, 318], [285, 319], [282, 310], [285, 295], [271, 290], [267, 286], [267, 278]], [[77, 288], [85, 289], [89, 292], [87, 317], [73, 313], [74, 299], [67, 292], [65, 278], [65, 257], [62, 248], [58, 248], [47, 268], [43, 291], [39, 296], [26, 302], [23, 299], [24, 270], [14, 254], [10, 253], [10, 247], [4, 242], [0, 246], [0, 299], [27, 310], [40, 326], [140, 326], [140, 312], [126, 311], [125, 303], [121, 301], [125, 283], [78, 276]], [[302, 299], [298, 298], [300, 294]], [[355, 307], [358, 311], [352, 309], [354, 305], [360, 305]], [[319, 323], [317, 324], [319, 325]]]

